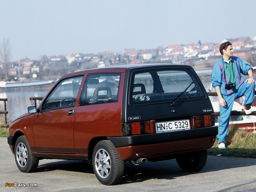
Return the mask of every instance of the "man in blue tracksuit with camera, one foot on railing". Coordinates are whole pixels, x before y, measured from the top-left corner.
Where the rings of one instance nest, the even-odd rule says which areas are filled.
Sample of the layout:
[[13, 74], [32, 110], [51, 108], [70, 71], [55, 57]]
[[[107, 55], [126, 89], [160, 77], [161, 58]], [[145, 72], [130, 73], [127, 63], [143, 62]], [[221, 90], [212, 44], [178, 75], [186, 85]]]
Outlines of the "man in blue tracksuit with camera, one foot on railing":
[[[236, 98], [245, 96], [245, 113], [251, 114], [256, 107], [251, 106], [255, 95], [255, 83], [253, 69], [243, 60], [233, 56], [233, 48], [230, 42], [220, 45], [222, 58], [217, 61], [212, 69], [212, 86], [216, 89], [220, 103], [219, 117], [219, 148], [226, 148], [226, 141], [229, 125], [229, 117]], [[249, 75], [244, 81], [243, 75]]]

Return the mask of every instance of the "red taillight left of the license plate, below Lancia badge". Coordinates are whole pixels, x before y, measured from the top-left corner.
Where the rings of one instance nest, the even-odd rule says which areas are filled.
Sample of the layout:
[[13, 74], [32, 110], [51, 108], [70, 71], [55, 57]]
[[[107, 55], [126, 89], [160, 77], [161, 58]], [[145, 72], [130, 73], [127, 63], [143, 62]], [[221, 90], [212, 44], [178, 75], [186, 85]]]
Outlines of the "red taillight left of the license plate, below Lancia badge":
[[156, 121], [122, 123], [122, 135], [140, 135], [156, 132]]

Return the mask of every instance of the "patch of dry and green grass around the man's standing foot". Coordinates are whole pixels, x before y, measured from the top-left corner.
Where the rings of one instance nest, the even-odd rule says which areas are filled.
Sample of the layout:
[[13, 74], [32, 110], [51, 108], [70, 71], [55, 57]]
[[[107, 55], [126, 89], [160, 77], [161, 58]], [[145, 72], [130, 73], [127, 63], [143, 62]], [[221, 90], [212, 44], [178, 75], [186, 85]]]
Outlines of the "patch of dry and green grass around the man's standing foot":
[[256, 158], [256, 132], [243, 132], [236, 125], [228, 128], [226, 149], [219, 149], [216, 141], [212, 148], [208, 149], [209, 155], [224, 155], [233, 157]]

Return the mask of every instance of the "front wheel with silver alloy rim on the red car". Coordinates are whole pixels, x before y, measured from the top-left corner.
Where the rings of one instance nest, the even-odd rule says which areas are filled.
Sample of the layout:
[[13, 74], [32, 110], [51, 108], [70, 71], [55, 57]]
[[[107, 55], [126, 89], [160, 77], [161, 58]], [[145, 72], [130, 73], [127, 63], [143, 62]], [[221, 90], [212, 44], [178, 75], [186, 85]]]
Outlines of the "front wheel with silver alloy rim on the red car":
[[39, 158], [32, 155], [27, 138], [20, 136], [14, 146], [15, 162], [21, 172], [35, 172], [39, 163]]

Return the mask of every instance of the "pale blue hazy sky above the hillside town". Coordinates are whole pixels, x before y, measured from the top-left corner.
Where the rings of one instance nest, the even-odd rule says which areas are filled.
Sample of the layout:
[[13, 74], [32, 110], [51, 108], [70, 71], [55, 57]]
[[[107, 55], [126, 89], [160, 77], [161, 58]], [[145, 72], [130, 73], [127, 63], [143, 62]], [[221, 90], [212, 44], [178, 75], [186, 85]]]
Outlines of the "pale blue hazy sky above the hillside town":
[[12, 60], [256, 36], [255, 0], [0, 1]]

